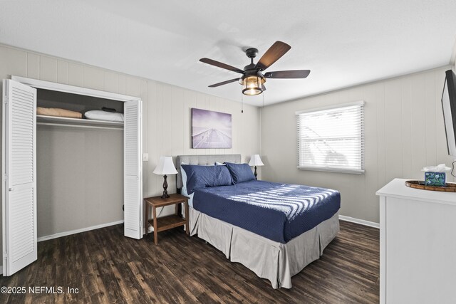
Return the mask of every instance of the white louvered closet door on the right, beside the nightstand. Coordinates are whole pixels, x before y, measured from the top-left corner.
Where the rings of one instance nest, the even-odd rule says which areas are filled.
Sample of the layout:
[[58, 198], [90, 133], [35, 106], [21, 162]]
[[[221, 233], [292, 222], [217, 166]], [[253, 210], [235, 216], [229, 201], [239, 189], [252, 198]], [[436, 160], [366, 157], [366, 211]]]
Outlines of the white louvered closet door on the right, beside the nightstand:
[[141, 100], [125, 103], [124, 139], [124, 235], [142, 238], [142, 122]]

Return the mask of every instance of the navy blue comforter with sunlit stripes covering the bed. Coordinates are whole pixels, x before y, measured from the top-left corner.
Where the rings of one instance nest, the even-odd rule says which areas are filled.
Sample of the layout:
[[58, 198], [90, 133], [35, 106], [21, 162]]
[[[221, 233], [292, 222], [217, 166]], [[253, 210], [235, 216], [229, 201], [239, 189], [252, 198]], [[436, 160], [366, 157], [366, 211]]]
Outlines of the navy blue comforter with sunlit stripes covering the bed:
[[198, 189], [193, 197], [197, 211], [280, 243], [330, 219], [340, 207], [336, 190], [257, 180]]

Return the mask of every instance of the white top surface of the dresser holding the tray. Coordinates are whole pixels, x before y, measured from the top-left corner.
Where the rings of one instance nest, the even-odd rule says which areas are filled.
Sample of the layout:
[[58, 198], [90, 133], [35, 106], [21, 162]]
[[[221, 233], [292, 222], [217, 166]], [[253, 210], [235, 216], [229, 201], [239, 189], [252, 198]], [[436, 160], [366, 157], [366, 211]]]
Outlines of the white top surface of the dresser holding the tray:
[[456, 192], [438, 192], [430, 190], [414, 189], [405, 186], [405, 182], [411, 179], [393, 179], [378, 190], [378, 196], [398, 197], [400, 199], [414, 199], [440, 204], [452, 204], [456, 206]]

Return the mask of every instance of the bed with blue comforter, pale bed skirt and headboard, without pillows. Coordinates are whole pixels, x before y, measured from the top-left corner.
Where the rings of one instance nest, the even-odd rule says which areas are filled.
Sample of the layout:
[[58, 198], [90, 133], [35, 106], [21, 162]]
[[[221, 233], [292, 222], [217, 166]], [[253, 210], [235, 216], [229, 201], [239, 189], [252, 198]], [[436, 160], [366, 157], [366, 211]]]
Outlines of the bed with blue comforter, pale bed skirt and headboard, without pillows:
[[[241, 156], [182, 155], [176, 160], [180, 190], [180, 164], [240, 163]], [[266, 278], [273, 288], [291, 288], [291, 277], [318, 259], [339, 231], [340, 194], [331, 189], [252, 180], [197, 189], [189, 204], [190, 235]]]

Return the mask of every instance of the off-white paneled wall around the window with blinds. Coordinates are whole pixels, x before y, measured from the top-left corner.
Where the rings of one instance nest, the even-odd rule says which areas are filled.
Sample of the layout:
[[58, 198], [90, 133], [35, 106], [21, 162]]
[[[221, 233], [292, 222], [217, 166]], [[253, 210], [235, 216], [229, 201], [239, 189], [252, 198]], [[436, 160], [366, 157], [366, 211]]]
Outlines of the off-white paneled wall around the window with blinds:
[[[440, 102], [449, 68], [265, 107], [261, 110], [263, 179], [337, 189], [342, 215], [378, 223], [376, 190], [395, 177], [423, 179], [423, 167], [450, 165], [453, 160], [447, 156]], [[356, 100], [366, 101], [366, 173], [296, 169], [295, 112]]]

